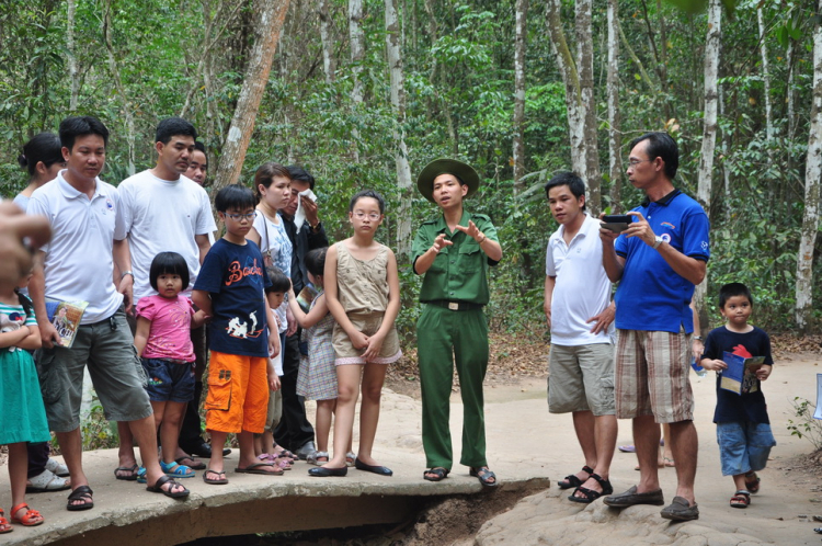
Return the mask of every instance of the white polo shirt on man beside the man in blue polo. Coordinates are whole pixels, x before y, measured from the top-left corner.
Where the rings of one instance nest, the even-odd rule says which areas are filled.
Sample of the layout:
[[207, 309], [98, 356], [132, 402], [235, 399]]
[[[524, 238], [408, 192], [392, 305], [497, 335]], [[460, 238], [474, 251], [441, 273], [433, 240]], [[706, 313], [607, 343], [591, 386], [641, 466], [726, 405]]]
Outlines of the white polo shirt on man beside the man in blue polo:
[[587, 345], [610, 343], [614, 332], [591, 333], [593, 322], [585, 322], [610, 305], [610, 281], [602, 264], [600, 221], [585, 214], [585, 219], [570, 244], [560, 226], [548, 240], [545, 274], [556, 276], [551, 298], [551, 343]]

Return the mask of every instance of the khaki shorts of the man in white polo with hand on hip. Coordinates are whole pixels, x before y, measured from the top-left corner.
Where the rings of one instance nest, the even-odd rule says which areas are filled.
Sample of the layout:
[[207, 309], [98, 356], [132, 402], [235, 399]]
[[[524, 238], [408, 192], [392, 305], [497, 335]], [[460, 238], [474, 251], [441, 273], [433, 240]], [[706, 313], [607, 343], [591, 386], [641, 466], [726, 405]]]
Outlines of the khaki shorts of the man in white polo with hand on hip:
[[548, 411], [591, 411], [613, 416], [614, 345], [551, 345], [548, 376]]

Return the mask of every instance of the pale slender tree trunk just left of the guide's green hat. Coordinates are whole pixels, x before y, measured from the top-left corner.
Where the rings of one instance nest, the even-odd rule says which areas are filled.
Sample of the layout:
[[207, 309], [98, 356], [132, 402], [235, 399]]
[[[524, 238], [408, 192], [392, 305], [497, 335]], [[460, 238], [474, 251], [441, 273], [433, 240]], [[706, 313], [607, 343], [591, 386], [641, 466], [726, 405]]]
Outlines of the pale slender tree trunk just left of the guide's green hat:
[[408, 164], [406, 147], [406, 77], [402, 72], [397, 0], [386, 0], [386, 48], [391, 77], [391, 107], [396, 116], [393, 129], [395, 162], [397, 163], [397, 187], [400, 191], [400, 208], [397, 214], [397, 254], [400, 263], [411, 255], [411, 167]]

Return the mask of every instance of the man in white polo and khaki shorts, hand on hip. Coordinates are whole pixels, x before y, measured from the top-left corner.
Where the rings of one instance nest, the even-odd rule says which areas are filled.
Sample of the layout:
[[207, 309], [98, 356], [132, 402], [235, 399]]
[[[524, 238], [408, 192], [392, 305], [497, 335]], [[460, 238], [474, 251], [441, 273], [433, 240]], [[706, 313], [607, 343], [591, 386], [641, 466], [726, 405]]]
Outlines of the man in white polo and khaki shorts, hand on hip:
[[617, 436], [614, 401], [614, 305], [602, 264], [600, 220], [585, 213], [585, 184], [561, 172], [545, 186], [560, 224], [548, 241], [545, 316], [551, 330], [548, 410], [573, 416], [585, 465], [559, 481], [590, 503], [614, 489], [608, 480]]

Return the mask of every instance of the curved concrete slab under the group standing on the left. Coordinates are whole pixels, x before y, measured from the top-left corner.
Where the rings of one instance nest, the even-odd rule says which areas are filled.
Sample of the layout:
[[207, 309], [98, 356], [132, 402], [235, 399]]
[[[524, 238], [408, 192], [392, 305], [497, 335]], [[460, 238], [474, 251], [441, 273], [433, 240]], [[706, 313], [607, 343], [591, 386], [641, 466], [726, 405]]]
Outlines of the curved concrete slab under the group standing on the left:
[[[46, 523], [36, 527], [14, 525], [2, 536], [3, 545], [60, 546], [105, 544], [174, 545], [204, 536], [334, 528], [376, 523], [398, 523], [416, 513], [433, 497], [488, 494], [467, 470], [455, 469], [448, 479], [433, 484], [422, 479], [418, 455], [396, 453], [380, 462], [395, 469], [392, 477], [350, 469], [344, 478], [312, 478], [299, 462], [278, 477], [232, 471], [236, 454], [226, 459], [230, 482], [210, 486], [197, 477], [180, 480], [191, 491], [176, 501], [146, 491], [145, 485], [114, 479], [116, 450], [87, 452], [84, 467], [94, 490], [94, 508], [66, 510], [68, 491], [27, 497]], [[500, 489], [523, 496], [550, 486], [546, 477], [506, 476]], [[3, 488], [0, 505], [10, 505]]]

